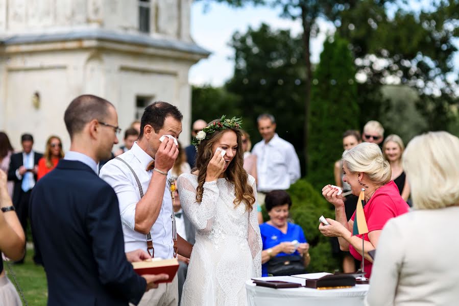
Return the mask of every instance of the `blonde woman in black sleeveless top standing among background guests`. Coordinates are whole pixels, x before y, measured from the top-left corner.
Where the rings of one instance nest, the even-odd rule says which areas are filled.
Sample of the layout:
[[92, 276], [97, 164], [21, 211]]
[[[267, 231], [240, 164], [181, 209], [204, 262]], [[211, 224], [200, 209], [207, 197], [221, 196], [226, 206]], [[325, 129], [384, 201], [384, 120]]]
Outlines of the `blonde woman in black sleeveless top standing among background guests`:
[[394, 181], [398, 187], [400, 195], [405, 201], [409, 197], [409, 185], [406, 180], [405, 171], [402, 166], [402, 154], [405, 146], [400, 136], [392, 134], [389, 135], [382, 144], [382, 154], [384, 159], [391, 164], [392, 175], [391, 180]]

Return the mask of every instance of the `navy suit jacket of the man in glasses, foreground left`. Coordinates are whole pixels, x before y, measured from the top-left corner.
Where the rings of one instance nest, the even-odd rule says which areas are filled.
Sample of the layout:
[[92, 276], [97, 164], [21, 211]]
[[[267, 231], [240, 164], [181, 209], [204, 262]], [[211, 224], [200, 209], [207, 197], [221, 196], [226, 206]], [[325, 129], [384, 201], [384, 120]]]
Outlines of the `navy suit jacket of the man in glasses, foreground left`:
[[118, 199], [89, 166], [60, 160], [35, 185], [30, 217], [48, 305], [139, 302], [147, 283], [126, 260]]

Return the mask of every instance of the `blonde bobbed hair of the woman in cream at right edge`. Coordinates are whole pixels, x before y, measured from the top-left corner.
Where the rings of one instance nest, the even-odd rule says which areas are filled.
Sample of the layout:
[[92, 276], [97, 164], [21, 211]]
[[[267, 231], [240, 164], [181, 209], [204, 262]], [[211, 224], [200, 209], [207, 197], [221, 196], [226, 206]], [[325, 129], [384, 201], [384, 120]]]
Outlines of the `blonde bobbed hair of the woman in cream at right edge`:
[[403, 154], [403, 169], [417, 209], [438, 209], [459, 203], [459, 139], [447, 132], [413, 138]]

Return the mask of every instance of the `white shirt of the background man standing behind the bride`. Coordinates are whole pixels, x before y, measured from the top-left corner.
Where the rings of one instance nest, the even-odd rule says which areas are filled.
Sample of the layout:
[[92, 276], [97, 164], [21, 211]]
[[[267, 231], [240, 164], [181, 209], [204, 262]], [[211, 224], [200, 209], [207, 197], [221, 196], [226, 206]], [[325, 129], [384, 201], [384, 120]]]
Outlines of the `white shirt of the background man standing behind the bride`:
[[258, 191], [286, 190], [301, 176], [295, 148], [277, 134], [255, 144], [252, 154], [257, 156]]

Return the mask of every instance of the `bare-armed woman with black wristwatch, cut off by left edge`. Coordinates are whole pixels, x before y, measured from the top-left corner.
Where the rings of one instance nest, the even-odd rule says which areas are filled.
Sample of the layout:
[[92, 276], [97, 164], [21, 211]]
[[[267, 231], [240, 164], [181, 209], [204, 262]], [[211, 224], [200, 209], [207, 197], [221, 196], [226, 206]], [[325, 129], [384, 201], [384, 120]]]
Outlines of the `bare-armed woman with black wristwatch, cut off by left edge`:
[[[0, 253], [11, 260], [20, 260], [26, 251], [26, 238], [8, 194], [7, 174], [0, 170]], [[13, 284], [5, 275], [0, 259], [0, 305], [21, 306], [22, 302]]]

